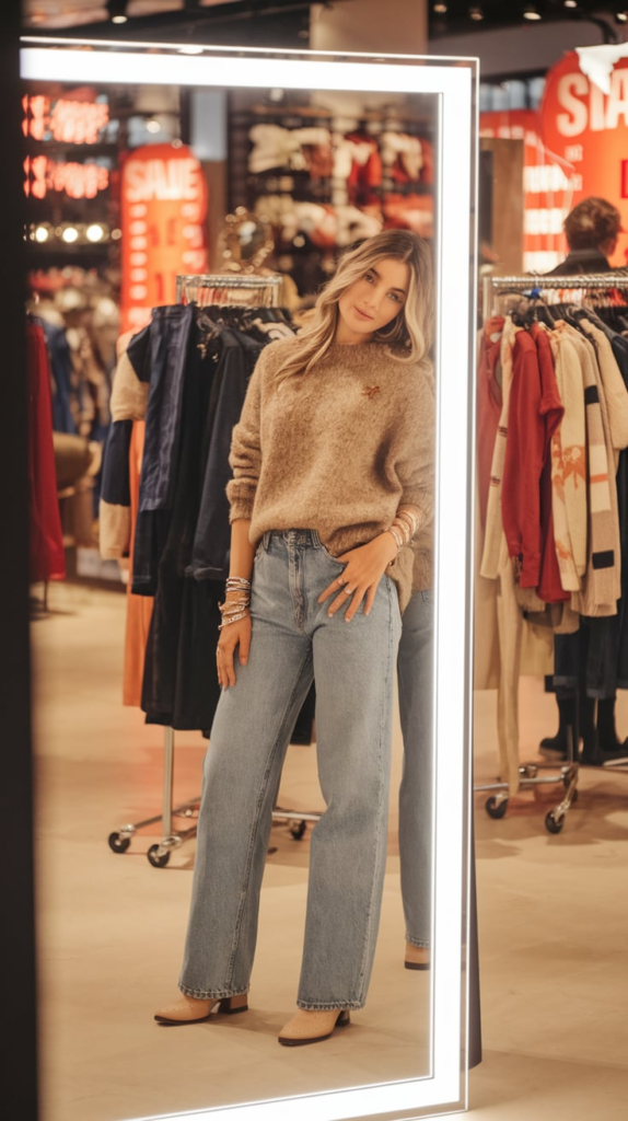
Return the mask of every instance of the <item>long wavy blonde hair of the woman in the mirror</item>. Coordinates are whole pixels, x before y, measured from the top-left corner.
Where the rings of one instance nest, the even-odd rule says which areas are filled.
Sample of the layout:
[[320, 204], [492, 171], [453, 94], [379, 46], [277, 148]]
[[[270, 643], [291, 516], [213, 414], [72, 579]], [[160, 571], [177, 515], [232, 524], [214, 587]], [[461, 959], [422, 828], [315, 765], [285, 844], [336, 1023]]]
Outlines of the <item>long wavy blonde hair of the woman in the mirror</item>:
[[423, 238], [409, 230], [385, 230], [363, 241], [340, 259], [336, 274], [317, 299], [311, 324], [297, 336], [288, 361], [278, 370], [279, 381], [293, 374], [309, 373], [320, 362], [334, 343], [338, 300], [385, 257], [409, 266], [410, 284], [403, 307], [391, 323], [375, 332], [373, 342], [387, 343], [387, 353], [399, 362], [419, 362], [431, 367], [429, 352], [434, 332], [431, 250]]

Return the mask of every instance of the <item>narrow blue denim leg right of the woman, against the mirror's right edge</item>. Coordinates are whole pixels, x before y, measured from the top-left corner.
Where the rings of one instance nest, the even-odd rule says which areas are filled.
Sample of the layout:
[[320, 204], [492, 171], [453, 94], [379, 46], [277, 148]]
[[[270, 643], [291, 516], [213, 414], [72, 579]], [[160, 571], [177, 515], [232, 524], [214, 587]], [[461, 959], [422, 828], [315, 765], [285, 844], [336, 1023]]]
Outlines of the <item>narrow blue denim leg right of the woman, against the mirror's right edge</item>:
[[432, 932], [432, 779], [434, 593], [413, 592], [403, 612], [397, 656], [403, 773], [399, 797], [399, 851], [405, 937], [429, 946]]

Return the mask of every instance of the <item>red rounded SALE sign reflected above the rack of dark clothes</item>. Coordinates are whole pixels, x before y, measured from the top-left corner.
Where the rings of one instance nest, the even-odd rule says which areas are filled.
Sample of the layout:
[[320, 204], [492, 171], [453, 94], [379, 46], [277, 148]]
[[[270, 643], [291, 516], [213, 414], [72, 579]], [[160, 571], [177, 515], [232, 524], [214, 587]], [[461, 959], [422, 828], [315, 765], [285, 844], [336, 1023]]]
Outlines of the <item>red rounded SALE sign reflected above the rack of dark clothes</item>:
[[176, 278], [207, 272], [207, 187], [181, 145], [147, 145], [122, 168], [122, 331], [140, 330], [151, 308], [174, 304]]

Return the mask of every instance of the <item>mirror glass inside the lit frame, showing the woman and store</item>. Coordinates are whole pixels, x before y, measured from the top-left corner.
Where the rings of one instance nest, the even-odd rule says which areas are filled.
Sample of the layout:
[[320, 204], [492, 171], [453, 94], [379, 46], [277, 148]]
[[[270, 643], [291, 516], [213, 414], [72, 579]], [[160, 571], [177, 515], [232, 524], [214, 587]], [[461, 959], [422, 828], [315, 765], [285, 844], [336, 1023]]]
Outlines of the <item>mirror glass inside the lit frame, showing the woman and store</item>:
[[425, 1075], [437, 99], [25, 111], [46, 1115]]

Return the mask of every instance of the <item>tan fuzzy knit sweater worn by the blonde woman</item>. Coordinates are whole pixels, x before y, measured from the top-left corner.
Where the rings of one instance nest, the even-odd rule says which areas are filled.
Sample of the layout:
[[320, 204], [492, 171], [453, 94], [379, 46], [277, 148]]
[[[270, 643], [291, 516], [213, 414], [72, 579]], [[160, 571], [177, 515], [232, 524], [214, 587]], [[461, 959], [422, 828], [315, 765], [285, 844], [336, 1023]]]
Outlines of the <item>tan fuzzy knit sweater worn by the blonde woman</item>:
[[266, 346], [233, 432], [231, 520], [251, 541], [273, 529], [316, 529], [340, 556], [384, 532], [402, 506], [419, 509], [413, 547], [388, 574], [400, 606], [432, 585], [434, 383], [381, 343], [334, 344], [310, 373], [276, 372], [296, 340]]

